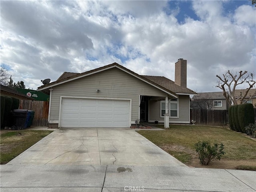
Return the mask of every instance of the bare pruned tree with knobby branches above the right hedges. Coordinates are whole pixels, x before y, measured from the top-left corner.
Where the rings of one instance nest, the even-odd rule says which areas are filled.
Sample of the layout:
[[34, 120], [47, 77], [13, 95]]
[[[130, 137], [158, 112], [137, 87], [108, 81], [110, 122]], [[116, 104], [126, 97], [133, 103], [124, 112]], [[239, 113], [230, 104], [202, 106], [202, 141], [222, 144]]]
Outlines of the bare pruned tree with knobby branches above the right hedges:
[[[223, 91], [223, 95], [230, 106], [242, 104], [256, 95], [255, 91], [254, 94], [250, 95], [250, 98], [246, 98], [249, 90], [253, 88], [254, 84], [256, 83], [255, 80], [253, 80], [252, 73], [248, 74], [247, 71], [240, 71], [239, 74], [233, 74], [228, 70], [226, 74], [223, 74], [223, 77], [220, 77], [218, 75], [216, 75], [216, 77], [219, 78], [216, 87], [220, 88]], [[236, 86], [241, 84], [248, 84], [248, 88], [246, 88], [244, 94], [241, 93], [240, 96], [236, 96]]]

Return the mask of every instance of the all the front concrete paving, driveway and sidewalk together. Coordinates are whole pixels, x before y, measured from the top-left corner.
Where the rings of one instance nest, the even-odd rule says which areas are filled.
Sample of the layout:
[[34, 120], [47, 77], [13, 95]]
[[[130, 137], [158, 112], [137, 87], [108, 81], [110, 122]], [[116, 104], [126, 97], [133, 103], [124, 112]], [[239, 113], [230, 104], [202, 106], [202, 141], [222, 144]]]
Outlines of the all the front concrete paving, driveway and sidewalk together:
[[131, 129], [58, 129], [0, 165], [1, 192], [256, 192], [256, 172], [190, 168]]

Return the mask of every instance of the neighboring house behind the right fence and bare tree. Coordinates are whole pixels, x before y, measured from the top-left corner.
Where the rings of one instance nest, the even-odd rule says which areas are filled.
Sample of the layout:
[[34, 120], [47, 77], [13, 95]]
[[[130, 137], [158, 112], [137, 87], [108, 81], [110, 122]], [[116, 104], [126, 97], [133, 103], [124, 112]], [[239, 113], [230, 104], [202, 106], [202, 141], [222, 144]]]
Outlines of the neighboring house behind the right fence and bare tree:
[[[245, 89], [237, 89], [235, 90], [236, 98], [241, 95], [244, 95], [246, 92]], [[244, 102], [252, 103], [254, 106], [256, 105], [256, 89], [250, 89]], [[248, 98], [252, 98], [248, 100]], [[248, 101], [247, 101], [248, 100]], [[226, 102], [226, 98], [223, 95], [223, 92], [204, 92], [198, 93], [196, 96], [193, 96], [190, 102], [191, 108], [204, 108], [204, 109], [212, 109], [212, 110], [227, 110], [229, 105]]]

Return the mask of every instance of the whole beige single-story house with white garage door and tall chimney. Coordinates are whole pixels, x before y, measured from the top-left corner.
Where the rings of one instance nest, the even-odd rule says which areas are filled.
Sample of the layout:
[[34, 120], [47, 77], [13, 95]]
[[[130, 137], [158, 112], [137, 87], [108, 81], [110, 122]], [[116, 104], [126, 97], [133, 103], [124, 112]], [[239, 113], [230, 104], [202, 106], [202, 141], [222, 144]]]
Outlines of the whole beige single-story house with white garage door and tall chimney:
[[190, 123], [186, 60], [175, 64], [175, 82], [143, 76], [117, 64], [84, 73], [64, 72], [38, 87], [50, 94], [51, 127], [130, 127], [141, 122]]

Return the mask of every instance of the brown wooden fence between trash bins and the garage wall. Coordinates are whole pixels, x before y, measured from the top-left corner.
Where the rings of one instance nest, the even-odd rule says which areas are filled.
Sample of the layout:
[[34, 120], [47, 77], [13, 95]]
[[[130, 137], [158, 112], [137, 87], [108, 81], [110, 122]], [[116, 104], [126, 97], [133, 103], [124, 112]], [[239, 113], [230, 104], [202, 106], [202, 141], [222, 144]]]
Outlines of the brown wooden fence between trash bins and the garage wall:
[[48, 101], [20, 100], [20, 109], [27, 109], [35, 112], [32, 126], [48, 126]]

